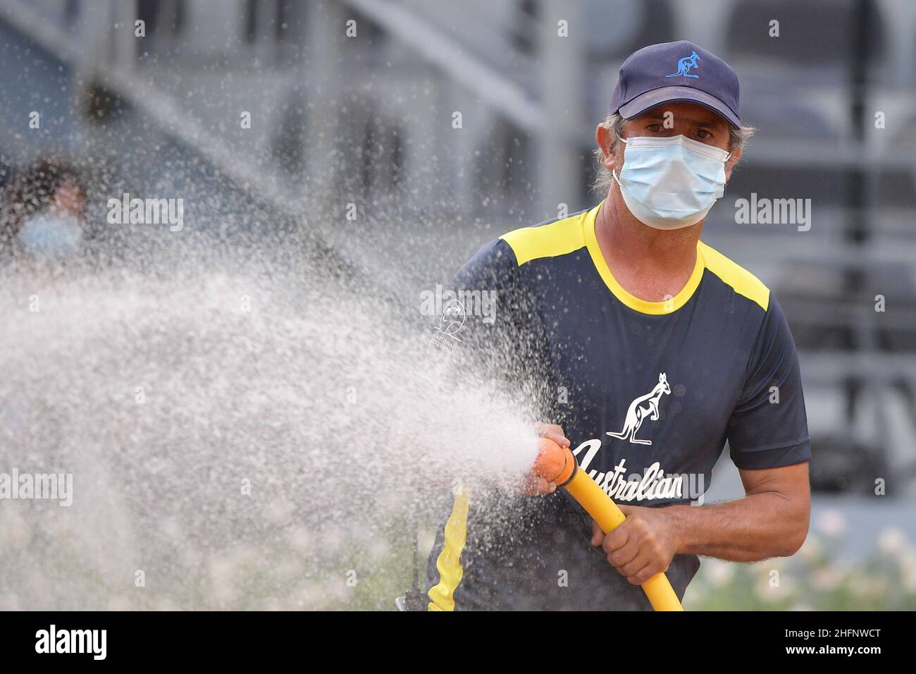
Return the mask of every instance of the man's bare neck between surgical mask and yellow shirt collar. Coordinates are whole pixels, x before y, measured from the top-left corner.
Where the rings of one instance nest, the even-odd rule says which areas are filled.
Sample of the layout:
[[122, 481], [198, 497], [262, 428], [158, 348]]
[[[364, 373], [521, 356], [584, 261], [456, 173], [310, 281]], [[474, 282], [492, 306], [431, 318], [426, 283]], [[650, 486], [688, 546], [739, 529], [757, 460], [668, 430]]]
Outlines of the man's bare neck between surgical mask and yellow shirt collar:
[[639, 222], [613, 187], [598, 211], [594, 234], [616, 282], [648, 302], [664, 302], [687, 284], [696, 266], [703, 222], [664, 231]]

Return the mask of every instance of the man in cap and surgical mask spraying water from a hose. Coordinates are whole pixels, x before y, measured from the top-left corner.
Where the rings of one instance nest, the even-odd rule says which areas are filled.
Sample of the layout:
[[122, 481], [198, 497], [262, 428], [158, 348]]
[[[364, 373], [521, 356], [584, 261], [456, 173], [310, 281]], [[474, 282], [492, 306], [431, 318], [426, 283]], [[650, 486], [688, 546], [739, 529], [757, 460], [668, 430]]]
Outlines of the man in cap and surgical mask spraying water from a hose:
[[[789, 327], [763, 283], [699, 240], [752, 132], [736, 74], [691, 42], [652, 45], [621, 66], [610, 113], [596, 132], [607, 198], [486, 244], [454, 284], [498, 298], [492, 326], [468, 317], [465, 355], [510, 391], [534, 382], [540, 435], [573, 447], [627, 522], [604, 536], [542, 481], [501, 515], [458, 489], [431, 609], [649, 610], [639, 584], [660, 571], [682, 598], [697, 556], [790, 556], [807, 535]], [[747, 495], [691, 504], [726, 440]]]

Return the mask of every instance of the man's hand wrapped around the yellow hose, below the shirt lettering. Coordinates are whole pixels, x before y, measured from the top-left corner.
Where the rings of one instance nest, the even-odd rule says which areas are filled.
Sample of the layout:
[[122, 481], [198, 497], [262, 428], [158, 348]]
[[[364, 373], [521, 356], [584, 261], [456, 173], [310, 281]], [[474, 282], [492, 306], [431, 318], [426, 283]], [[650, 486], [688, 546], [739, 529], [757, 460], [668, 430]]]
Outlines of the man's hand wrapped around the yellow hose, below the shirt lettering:
[[607, 561], [634, 585], [668, 570], [680, 546], [675, 518], [665, 508], [620, 505], [627, 521], [610, 534], [592, 523], [592, 545], [607, 553]]

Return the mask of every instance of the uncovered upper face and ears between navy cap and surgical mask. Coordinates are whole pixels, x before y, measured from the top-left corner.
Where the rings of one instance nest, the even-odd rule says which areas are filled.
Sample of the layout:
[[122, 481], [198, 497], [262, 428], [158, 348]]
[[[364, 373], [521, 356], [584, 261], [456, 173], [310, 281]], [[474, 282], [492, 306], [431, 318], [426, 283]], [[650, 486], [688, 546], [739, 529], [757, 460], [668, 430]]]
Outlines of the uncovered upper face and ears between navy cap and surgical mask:
[[[602, 133], [605, 131], [605, 133]], [[695, 103], [668, 103], [654, 107], [638, 117], [627, 119], [624, 124], [624, 138], [636, 136], [683, 136], [730, 151], [728, 148], [728, 122], [709, 108]], [[605, 149], [605, 166], [619, 170], [624, 163], [624, 144], [610, 142], [603, 127], [598, 127], [598, 143]], [[741, 157], [741, 150], [735, 150], [725, 162], [725, 179], [731, 177], [732, 167]]]

